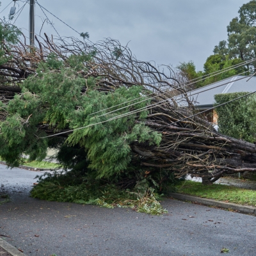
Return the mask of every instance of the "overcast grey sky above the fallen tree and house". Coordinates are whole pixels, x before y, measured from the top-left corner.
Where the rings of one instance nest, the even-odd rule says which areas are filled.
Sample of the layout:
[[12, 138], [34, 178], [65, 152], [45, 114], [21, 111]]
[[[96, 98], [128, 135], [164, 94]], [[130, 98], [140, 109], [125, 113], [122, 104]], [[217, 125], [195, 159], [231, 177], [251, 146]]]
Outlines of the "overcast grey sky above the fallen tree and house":
[[[11, 0], [1, 0], [0, 12]], [[202, 70], [214, 45], [227, 39], [227, 25], [238, 16], [239, 7], [249, 0], [37, 0], [54, 15], [96, 42], [111, 37], [125, 45], [140, 60], [176, 67], [194, 61]], [[8, 17], [10, 8], [0, 17]], [[17, 1], [17, 10], [24, 3]], [[36, 33], [45, 15], [36, 4]], [[61, 36], [79, 36], [45, 11]], [[15, 24], [28, 35], [29, 4]], [[56, 35], [50, 24], [42, 33]]]

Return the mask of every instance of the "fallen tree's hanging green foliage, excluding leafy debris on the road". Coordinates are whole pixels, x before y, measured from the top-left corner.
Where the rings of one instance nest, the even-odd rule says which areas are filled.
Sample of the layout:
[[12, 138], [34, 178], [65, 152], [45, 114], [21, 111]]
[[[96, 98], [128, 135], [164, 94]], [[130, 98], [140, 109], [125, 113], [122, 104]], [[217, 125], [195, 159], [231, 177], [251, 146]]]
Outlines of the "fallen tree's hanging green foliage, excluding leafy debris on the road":
[[[146, 97], [140, 102], [141, 86], [102, 93], [94, 90], [97, 78], [85, 79], [77, 75], [77, 70], [92, 58], [92, 55], [84, 54], [69, 56], [67, 66], [54, 54], [49, 54], [47, 61], [38, 65], [37, 74], [22, 83], [22, 93], [10, 100], [7, 106], [2, 106], [8, 116], [1, 123], [0, 141], [4, 146], [0, 148], [0, 156], [10, 166], [22, 163], [22, 154], [28, 154], [29, 160], [41, 161], [47, 147], [78, 150], [79, 146], [85, 153], [76, 164], [60, 150], [69, 159], [64, 166], [83, 168], [88, 161], [89, 168], [97, 173], [95, 178], [109, 178], [131, 170], [130, 144], [133, 141], [159, 145], [161, 133], [153, 132], [143, 124], [147, 111], [115, 119], [150, 104]], [[84, 87], [86, 95], [81, 93]], [[130, 100], [132, 106], [118, 109]], [[104, 109], [110, 109], [110, 113]], [[135, 118], [140, 120], [139, 124], [134, 122]], [[38, 124], [49, 125], [55, 131], [84, 128], [72, 132], [65, 141], [40, 138], [46, 134], [37, 129]], [[74, 154], [72, 156], [76, 158]], [[63, 157], [61, 160], [65, 161]]]

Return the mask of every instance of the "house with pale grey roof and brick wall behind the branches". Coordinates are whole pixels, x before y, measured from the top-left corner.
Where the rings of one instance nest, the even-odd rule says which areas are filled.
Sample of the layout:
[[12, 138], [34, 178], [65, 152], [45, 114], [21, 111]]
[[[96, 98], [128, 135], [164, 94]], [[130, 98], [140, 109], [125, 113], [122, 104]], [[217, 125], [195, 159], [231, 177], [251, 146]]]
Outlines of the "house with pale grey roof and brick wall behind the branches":
[[[193, 90], [188, 93], [189, 98], [193, 100], [198, 111], [206, 111], [203, 115], [207, 120], [213, 124], [218, 124], [218, 115], [213, 108], [214, 95], [220, 93], [234, 93], [234, 92], [255, 92], [256, 91], [256, 77], [251, 79], [248, 76], [231, 77], [217, 83], [210, 84]], [[249, 80], [248, 80], [249, 79]]]

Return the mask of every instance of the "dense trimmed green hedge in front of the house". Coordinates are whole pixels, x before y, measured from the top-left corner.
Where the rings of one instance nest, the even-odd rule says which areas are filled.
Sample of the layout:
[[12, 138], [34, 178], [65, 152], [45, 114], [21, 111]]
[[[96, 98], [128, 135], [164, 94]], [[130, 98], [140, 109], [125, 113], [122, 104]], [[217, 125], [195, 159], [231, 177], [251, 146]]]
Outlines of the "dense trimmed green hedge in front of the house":
[[[246, 95], [248, 92], [225, 93], [214, 96], [216, 105]], [[237, 139], [253, 142], [256, 137], [256, 97], [250, 95], [216, 108], [220, 132]]]

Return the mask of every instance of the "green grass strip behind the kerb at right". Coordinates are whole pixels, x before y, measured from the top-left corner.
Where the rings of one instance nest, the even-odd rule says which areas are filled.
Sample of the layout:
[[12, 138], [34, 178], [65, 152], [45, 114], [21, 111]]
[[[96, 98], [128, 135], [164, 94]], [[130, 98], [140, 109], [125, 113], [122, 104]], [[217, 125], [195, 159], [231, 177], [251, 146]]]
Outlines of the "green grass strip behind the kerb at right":
[[177, 186], [177, 193], [214, 199], [241, 205], [256, 206], [256, 191], [233, 186], [212, 184], [186, 180]]

